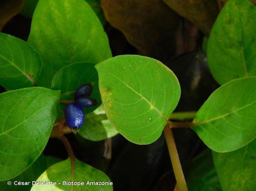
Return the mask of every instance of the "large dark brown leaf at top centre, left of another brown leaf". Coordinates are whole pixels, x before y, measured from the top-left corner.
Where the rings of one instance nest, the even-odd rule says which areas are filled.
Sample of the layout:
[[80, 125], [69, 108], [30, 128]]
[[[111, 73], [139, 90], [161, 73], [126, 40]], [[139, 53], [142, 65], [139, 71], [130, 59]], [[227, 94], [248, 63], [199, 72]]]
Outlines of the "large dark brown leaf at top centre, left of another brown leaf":
[[169, 60], [177, 55], [182, 19], [162, 0], [101, 0], [107, 21], [142, 55]]

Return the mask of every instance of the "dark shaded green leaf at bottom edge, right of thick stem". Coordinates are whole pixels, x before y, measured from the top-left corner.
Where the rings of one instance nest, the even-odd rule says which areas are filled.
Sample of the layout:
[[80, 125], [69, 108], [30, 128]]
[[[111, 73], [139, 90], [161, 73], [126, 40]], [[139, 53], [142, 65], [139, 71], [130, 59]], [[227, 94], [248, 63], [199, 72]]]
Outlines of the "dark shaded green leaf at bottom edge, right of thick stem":
[[220, 181], [213, 163], [210, 149], [198, 155], [184, 170], [188, 190], [220, 191]]

